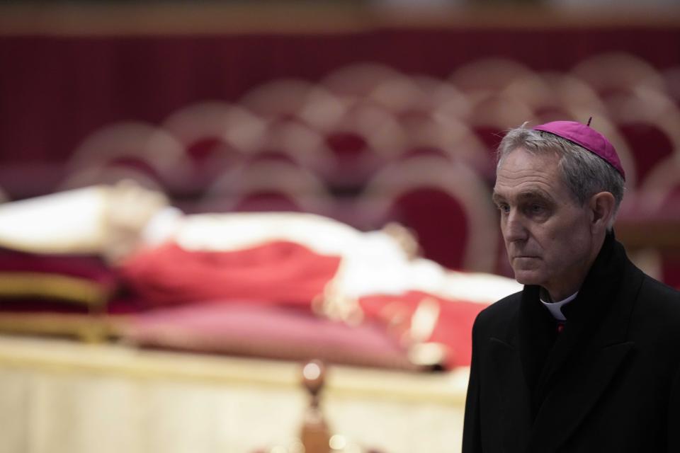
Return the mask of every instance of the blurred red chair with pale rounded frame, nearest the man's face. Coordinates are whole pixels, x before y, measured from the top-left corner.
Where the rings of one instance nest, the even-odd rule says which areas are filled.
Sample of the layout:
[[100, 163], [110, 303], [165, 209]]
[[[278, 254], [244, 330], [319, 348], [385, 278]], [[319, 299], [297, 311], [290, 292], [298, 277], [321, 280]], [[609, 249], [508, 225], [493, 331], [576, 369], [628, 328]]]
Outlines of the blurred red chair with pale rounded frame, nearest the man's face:
[[498, 229], [489, 189], [468, 166], [419, 156], [387, 166], [358, 205], [377, 228], [399, 222], [412, 229], [422, 253], [448, 268], [492, 272]]

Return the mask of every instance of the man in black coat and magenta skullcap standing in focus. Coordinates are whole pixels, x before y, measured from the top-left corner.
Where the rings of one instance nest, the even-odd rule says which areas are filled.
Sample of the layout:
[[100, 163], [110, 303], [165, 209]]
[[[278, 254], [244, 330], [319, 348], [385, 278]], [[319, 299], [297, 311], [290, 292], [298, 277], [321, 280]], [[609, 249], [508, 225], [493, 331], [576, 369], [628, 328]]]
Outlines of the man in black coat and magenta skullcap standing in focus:
[[493, 199], [525, 286], [472, 328], [463, 453], [680, 452], [680, 292], [614, 238], [624, 179], [578, 122], [504, 137]]

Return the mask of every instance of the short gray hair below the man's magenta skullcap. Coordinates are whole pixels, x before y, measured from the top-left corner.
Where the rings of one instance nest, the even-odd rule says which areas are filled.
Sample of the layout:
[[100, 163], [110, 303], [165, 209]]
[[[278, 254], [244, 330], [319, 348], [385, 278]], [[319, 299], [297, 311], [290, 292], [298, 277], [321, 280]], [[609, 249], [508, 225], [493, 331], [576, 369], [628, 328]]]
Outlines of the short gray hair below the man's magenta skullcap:
[[[596, 154], [580, 147], [574, 142], [558, 137], [550, 132], [526, 128], [526, 123], [507, 132], [498, 146], [497, 170], [505, 157], [517, 148], [526, 149], [532, 154], [554, 152], [559, 156], [557, 168], [562, 180], [567, 184], [574, 200], [579, 205], [599, 192], [611, 193], [614, 197], [614, 216], [623, 200], [624, 180], [613, 166]], [[609, 227], [611, 228], [611, 224]]]

